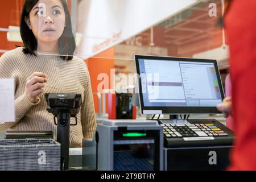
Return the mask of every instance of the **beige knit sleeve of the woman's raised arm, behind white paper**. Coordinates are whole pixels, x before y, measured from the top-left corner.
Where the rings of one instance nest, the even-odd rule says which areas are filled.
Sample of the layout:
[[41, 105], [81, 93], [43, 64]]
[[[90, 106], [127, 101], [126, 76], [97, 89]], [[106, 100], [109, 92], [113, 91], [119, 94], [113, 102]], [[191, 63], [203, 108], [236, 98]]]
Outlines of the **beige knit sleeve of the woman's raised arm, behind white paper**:
[[15, 121], [14, 122], [5, 122], [0, 124], [0, 131], [5, 131], [10, 127], [13, 127], [23, 118], [24, 114], [34, 105], [39, 104], [38, 102], [34, 103], [28, 100], [26, 92], [20, 96], [16, 96], [16, 89], [19, 86], [19, 69], [15, 65], [15, 61], [20, 61], [16, 55], [12, 55], [11, 52], [7, 52], [0, 57], [0, 78], [13, 78], [14, 79], [14, 92], [15, 92]]

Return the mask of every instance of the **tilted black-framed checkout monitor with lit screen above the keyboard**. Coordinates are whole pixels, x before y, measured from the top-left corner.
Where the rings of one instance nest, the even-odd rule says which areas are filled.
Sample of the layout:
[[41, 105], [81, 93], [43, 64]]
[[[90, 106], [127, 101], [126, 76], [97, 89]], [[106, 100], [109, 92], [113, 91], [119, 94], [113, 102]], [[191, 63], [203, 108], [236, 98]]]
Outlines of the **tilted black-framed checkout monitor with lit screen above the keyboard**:
[[216, 60], [135, 56], [135, 61], [146, 113], [218, 113], [224, 93]]

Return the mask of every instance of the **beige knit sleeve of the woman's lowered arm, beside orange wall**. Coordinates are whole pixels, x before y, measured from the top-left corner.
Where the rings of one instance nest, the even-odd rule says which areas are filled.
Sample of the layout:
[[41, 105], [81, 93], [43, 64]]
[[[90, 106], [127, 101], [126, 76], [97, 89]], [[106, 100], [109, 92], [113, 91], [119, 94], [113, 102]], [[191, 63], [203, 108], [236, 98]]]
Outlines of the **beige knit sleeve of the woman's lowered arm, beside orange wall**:
[[84, 101], [81, 106], [82, 134], [84, 135], [84, 138], [91, 139], [96, 130], [96, 115], [94, 111], [92, 86], [90, 85], [90, 75], [85, 63], [84, 76], [88, 79], [85, 83]]

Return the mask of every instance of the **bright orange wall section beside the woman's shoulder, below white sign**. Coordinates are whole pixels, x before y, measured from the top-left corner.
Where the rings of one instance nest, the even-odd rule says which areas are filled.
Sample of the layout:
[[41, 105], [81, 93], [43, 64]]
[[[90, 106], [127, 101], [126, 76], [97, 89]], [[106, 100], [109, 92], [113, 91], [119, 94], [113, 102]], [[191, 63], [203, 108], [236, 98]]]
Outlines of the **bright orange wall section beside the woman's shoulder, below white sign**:
[[[104, 57], [108, 57], [108, 59]], [[98, 81], [97, 78], [100, 73], [106, 73], [109, 77], [108, 88], [110, 88], [110, 69], [114, 68], [114, 47], [85, 60], [85, 63], [87, 64], [90, 73], [95, 111], [98, 113], [98, 97], [96, 93], [98, 92], [97, 87], [101, 80]], [[108, 112], [108, 95], [106, 95], [106, 112]]]

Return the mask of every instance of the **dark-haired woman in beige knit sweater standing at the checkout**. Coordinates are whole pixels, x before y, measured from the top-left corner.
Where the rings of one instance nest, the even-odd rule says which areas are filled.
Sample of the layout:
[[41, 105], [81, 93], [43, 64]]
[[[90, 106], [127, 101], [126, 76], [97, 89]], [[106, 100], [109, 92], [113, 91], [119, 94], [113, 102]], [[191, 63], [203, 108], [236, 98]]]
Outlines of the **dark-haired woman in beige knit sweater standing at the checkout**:
[[82, 106], [77, 126], [71, 126], [70, 147], [81, 147], [82, 138], [93, 137], [96, 117], [88, 69], [73, 56], [76, 44], [66, 1], [26, 0], [20, 34], [24, 46], [0, 58], [0, 77], [15, 80], [15, 122], [1, 124], [0, 131], [53, 131], [56, 137], [44, 93], [80, 93]]

